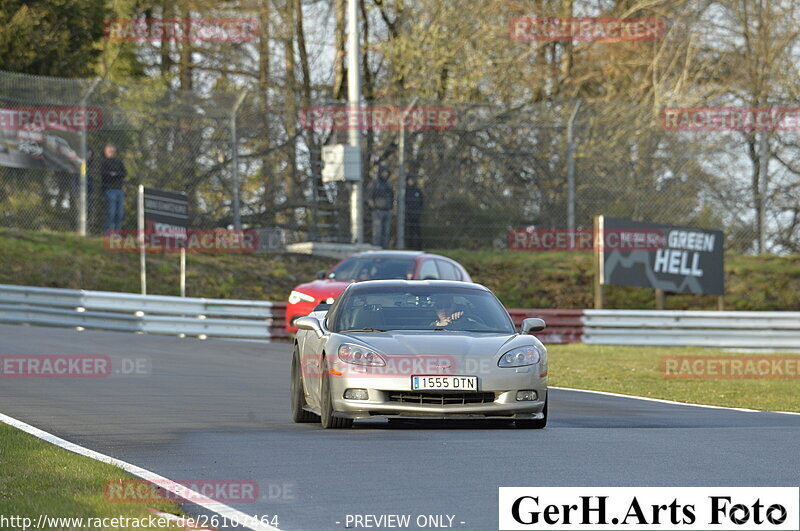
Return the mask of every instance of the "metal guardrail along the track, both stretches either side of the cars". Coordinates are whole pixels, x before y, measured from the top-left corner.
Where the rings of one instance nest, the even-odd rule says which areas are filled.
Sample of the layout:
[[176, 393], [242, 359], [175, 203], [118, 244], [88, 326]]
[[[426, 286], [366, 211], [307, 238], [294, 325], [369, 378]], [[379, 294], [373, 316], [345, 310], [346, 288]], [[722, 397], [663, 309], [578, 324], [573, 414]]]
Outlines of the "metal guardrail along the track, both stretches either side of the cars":
[[[541, 317], [544, 343], [800, 349], [800, 312], [509, 310]], [[0, 323], [269, 340], [287, 337], [285, 302], [137, 295], [0, 284]]]

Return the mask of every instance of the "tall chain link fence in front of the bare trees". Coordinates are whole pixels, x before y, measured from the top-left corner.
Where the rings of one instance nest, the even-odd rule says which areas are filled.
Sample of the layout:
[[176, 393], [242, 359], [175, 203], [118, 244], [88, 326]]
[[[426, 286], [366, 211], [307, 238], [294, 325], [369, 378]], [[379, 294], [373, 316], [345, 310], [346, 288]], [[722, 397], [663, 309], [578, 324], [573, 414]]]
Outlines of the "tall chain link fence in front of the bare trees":
[[[135, 186], [144, 184], [186, 193], [194, 228], [234, 227], [240, 220], [246, 228], [280, 229], [288, 243], [350, 241], [352, 185], [321, 178], [322, 147], [347, 143], [347, 127], [303, 119], [309, 108], [344, 105], [0, 73], [6, 115], [0, 128], [0, 226], [78, 231], [86, 161], [86, 228], [101, 234], [99, 165], [113, 143], [128, 171], [123, 228], [136, 226]], [[396, 115], [409, 102], [372, 105]], [[67, 114], [48, 128], [9, 123], [9, 113], [20, 110], [70, 108], [96, 111], [101, 120], [84, 125], [69, 122]], [[446, 110], [453, 119], [436, 127], [365, 127], [363, 186], [366, 196], [377, 169], [386, 166], [397, 198], [404, 146], [404, 172], [418, 177], [424, 195], [423, 248], [502, 249], [510, 229], [587, 228], [594, 215], [606, 214], [719, 227], [729, 248], [754, 249], [746, 150], [734, 156], [744, 165], [735, 175], [719, 165], [720, 156], [732, 156], [731, 136], [665, 131], [658, 110], [636, 105], [415, 101], [414, 109]], [[782, 221], [785, 208], [774, 203], [772, 250], [793, 250], [795, 226]], [[787, 204], [796, 212], [796, 203]], [[371, 216], [365, 208], [366, 241]], [[391, 246], [403, 247], [396, 210], [392, 226]]]

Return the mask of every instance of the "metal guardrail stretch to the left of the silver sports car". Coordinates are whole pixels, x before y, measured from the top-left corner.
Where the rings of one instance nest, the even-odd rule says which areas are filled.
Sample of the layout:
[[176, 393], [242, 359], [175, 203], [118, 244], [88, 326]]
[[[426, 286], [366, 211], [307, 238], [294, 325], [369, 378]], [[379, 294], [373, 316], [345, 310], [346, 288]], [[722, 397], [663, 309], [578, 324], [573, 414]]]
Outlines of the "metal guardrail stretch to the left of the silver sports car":
[[285, 303], [0, 284], [0, 322], [148, 334], [285, 337]]

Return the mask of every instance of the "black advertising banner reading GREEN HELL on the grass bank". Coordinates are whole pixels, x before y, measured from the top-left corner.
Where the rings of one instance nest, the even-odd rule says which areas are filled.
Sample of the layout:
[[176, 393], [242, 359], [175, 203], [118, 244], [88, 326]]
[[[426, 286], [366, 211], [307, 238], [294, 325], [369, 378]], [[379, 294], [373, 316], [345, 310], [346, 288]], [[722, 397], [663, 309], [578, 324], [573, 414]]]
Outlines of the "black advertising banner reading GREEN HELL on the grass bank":
[[[724, 295], [724, 236], [722, 231], [664, 225], [600, 216], [604, 233], [649, 240], [641, 245], [603, 246], [603, 284], [637, 286], [664, 291]], [[644, 236], [642, 236], [644, 235]]]

